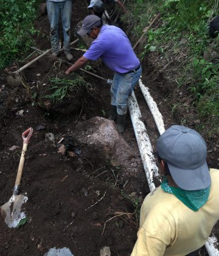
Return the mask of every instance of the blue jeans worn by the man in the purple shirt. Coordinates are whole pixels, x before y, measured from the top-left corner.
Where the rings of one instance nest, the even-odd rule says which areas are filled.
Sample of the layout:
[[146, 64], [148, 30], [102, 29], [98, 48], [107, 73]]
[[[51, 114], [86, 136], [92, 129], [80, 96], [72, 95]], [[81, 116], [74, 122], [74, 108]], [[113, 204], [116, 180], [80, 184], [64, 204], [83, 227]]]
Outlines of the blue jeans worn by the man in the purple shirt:
[[128, 74], [114, 73], [113, 84], [111, 85], [111, 105], [116, 105], [117, 114], [125, 115], [127, 113], [128, 97], [139, 81], [142, 68]]

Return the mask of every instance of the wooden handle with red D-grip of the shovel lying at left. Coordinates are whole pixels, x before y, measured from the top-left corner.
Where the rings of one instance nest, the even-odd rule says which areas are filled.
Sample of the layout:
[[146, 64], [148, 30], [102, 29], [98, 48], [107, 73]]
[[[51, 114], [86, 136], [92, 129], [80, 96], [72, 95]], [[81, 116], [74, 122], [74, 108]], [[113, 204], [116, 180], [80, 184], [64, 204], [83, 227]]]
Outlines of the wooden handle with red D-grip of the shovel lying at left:
[[[27, 145], [29, 143], [30, 137], [32, 136], [33, 133], [33, 128], [30, 127], [27, 129], [25, 132], [22, 133], [22, 138], [23, 138], [23, 149], [21, 152], [21, 158], [19, 161], [19, 166], [18, 166], [18, 173], [16, 176], [15, 180], [15, 187], [13, 188], [13, 194], [17, 195], [19, 193], [19, 187], [21, 184], [21, 177], [23, 174], [23, 168], [24, 168], [24, 160], [25, 160], [25, 153], [27, 151]], [[27, 135], [27, 137], [26, 137]]]

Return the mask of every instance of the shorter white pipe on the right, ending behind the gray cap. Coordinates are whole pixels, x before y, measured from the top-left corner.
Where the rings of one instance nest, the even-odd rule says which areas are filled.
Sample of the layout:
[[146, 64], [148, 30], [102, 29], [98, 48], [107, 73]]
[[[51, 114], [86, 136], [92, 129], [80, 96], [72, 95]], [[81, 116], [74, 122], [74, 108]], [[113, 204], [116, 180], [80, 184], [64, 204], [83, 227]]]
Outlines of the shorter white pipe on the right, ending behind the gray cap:
[[162, 118], [161, 112], [159, 112], [158, 105], [151, 97], [148, 87], [145, 87], [141, 79], [139, 80], [139, 86], [141, 88], [145, 101], [147, 102], [148, 108], [150, 109], [150, 112], [153, 115], [153, 119], [155, 120], [156, 127], [158, 128], [158, 132], [161, 135], [162, 133], [165, 132], [165, 128], [164, 128], [164, 120]]

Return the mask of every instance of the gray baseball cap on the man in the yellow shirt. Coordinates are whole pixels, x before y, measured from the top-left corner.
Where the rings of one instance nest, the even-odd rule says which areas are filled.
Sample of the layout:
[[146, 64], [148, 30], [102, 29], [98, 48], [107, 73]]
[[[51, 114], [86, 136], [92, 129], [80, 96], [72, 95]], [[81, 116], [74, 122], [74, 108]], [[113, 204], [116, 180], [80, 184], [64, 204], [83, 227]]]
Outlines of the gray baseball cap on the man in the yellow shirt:
[[210, 186], [207, 147], [198, 132], [184, 126], [172, 126], [159, 137], [156, 150], [179, 188], [201, 190]]

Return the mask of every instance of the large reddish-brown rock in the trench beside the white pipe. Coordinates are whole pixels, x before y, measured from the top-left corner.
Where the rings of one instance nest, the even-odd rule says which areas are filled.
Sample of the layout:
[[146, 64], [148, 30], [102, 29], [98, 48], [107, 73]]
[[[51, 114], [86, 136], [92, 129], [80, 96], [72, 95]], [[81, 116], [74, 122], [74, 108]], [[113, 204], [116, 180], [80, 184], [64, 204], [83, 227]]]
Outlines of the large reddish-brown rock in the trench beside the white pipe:
[[134, 157], [134, 152], [117, 131], [113, 121], [96, 116], [77, 127], [77, 140], [92, 150], [97, 150], [117, 165]]

